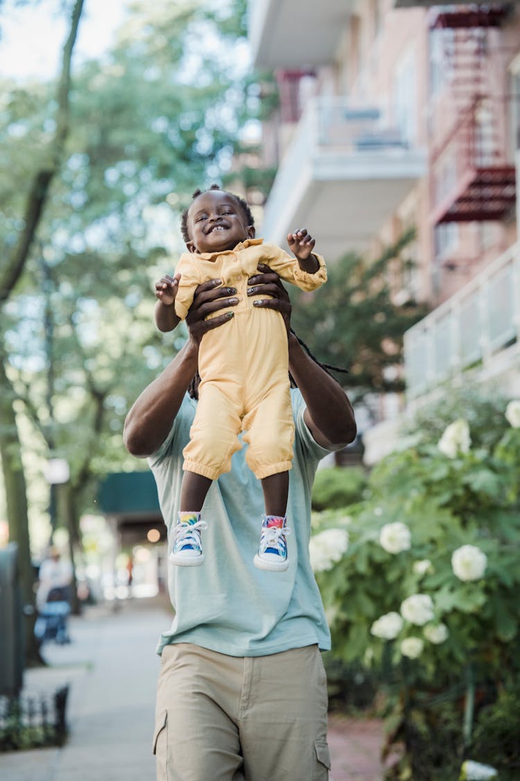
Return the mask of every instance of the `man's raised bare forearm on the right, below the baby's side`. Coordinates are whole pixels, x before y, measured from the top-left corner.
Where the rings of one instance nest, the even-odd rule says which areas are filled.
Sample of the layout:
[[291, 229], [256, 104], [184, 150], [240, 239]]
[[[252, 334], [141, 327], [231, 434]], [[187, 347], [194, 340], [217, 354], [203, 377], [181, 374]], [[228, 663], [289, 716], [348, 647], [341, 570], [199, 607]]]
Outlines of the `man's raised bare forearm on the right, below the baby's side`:
[[341, 386], [289, 336], [289, 369], [306, 402], [306, 423], [325, 448], [344, 448], [356, 438], [352, 405]]

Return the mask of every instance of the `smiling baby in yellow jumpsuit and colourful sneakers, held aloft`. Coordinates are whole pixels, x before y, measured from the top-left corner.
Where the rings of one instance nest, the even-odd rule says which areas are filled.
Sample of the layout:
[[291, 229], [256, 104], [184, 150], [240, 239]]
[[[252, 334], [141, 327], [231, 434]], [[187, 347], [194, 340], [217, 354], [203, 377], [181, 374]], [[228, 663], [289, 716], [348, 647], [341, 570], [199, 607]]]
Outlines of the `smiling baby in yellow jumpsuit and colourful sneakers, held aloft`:
[[306, 230], [288, 234], [295, 258], [256, 239], [246, 201], [218, 185], [193, 194], [182, 214], [182, 234], [188, 252], [174, 276], [155, 285], [159, 330], [173, 330], [186, 318], [196, 287], [206, 280], [221, 280], [238, 303], [228, 312], [229, 323], [205, 333], [200, 343], [199, 401], [182, 452], [180, 510], [169, 560], [184, 566], [203, 563], [203, 501], [211, 482], [231, 469], [232, 455], [241, 447], [238, 434], [244, 431], [246, 461], [262, 481], [265, 504], [254, 563], [283, 571], [288, 568], [285, 512], [294, 440], [287, 330], [280, 312], [256, 308], [247, 284], [264, 263], [281, 279], [313, 291], [327, 280], [324, 259], [313, 254], [315, 242]]

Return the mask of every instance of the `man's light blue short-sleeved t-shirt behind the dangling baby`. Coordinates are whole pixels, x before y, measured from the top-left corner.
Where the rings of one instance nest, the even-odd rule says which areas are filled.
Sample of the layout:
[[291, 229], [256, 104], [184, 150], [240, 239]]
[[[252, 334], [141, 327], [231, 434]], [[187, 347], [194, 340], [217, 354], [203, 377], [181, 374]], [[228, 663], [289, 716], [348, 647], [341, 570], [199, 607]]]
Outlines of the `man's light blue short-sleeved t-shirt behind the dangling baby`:
[[[203, 565], [168, 565], [175, 617], [161, 634], [158, 654], [170, 643], [193, 643], [230, 656], [263, 656], [312, 644], [322, 651], [331, 647], [309, 559], [310, 492], [317, 464], [328, 451], [313, 440], [303, 420], [302, 394], [293, 389], [291, 395], [295, 442], [289, 473], [288, 569], [266, 572], [253, 565], [264, 495], [260, 480], [246, 465], [247, 445], [242, 443], [232, 457], [232, 471], [211, 484], [203, 505]], [[168, 551], [179, 510], [182, 449], [195, 410], [196, 401], [186, 395], [168, 437], [148, 458], [168, 526]]]

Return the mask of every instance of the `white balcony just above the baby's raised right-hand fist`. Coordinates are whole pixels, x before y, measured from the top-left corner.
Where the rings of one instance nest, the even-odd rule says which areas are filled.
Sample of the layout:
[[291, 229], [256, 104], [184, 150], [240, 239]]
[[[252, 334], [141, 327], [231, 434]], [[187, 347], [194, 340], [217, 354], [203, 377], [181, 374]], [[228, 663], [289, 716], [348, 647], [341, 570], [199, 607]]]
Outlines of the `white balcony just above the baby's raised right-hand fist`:
[[306, 227], [328, 260], [363, 250], [425, 173], [425, 153], [390, 109], [313, 98], [281, 161], [261, 235], [283, 245], [289, 230]]

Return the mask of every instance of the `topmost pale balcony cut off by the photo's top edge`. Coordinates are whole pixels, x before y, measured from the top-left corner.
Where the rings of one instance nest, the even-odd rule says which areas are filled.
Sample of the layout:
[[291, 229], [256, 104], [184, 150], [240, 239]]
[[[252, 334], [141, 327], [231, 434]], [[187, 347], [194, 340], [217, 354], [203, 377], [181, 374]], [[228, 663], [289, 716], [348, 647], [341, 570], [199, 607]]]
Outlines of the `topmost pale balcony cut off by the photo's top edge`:
[[249, 45], [255, 66], [329, 65], [355, 5], [355, 0], [249, 0]]

